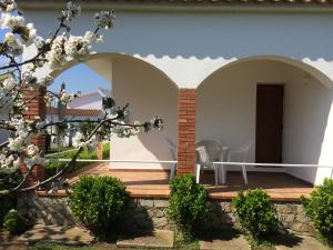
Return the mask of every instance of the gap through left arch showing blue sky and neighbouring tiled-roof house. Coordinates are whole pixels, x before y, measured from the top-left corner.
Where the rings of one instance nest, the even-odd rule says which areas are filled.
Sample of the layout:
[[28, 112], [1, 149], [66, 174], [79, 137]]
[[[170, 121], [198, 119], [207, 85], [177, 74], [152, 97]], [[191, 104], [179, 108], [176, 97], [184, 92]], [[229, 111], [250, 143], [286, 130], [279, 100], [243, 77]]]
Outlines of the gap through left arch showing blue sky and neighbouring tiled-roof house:
[[[48, 91], [59, 93], [61, 89], [68, 93], [80, 92], [80, 96], [67, 104], [60, 103], [56, 98], [48, 102], [46, 109], [48, 122], [58, 122], [63, 119], [98, 120], [102, 111], [102, 94], [111, 94], [111, 81], [88, 64], [77, 63], [59, 72]], [[65, 134], [59, 134], [58, 126], [49, 127], [47, 153], [71, 150], [72, 139], [78, 132], [77, 126], [70, 127]]]

